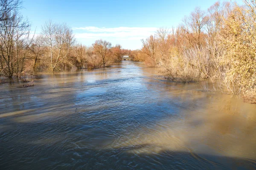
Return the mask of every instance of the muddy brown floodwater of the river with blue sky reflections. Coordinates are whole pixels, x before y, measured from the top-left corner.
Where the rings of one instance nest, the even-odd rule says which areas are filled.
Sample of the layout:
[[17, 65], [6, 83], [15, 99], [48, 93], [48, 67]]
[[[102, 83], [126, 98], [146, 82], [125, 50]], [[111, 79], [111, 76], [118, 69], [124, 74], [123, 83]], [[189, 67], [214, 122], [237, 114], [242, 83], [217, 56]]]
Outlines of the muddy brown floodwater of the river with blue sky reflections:
[[1, 169], [255, 169], [256, 106], [123, 61], [0, 86]]

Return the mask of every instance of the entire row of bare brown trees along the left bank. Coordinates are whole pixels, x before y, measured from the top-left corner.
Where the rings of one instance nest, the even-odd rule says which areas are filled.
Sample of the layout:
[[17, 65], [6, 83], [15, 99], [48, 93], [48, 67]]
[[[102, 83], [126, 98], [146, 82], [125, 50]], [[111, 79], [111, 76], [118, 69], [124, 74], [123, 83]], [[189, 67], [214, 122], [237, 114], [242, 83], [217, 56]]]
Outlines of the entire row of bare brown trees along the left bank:
[[13, 81], [39, 71], [104, 68], [131, 54], [105, 40], [81, 45], [70, 26], [51, 20], [35, 35], [20, 8], [20, 0], [0, 0], [0, 77]]

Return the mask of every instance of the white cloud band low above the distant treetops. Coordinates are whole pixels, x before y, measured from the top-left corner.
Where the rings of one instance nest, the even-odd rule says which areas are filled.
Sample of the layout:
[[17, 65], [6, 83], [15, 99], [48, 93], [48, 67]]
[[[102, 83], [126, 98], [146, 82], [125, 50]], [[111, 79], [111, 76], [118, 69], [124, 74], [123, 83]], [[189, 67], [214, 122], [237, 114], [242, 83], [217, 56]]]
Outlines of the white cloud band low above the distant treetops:
[[[103, 39], [121, 44], [123, 48], [137, 49], [141, 47], [141, 39], [155, 34], [155, 27], [116, 27], [116, 28], [99, 28], [94, 26], [73, 28], [75, 37], [81, 43], [90, 45], [91, 42]], [[90, 43], [90, 44], [89, 44]]]

